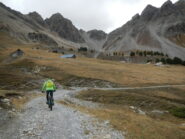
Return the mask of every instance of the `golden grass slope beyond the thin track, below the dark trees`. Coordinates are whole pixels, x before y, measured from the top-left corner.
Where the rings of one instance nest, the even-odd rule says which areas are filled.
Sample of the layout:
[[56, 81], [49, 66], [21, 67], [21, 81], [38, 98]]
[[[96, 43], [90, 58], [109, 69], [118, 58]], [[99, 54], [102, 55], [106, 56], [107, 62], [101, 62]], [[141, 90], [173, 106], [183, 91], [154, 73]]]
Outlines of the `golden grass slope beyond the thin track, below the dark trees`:
[[[3, 45], [10, 40], [3, 39], [6, 40], [3, 41]], [[38, 65], [53, 67], [66, 74], [82, 78], [106, 80], [125, 86], [185, 84], [184, 66], [157, 67], [154, 65], [123, 64], [121, 62], [90, 58], [61, 59], [59, 54], [51, 53], [47, 50], [32, 49], [39, 46], [38, 44], [23, 45], [14, 41], [10, 42], [8, 46], [10, 45], [11, 47], [7, 47], [3, 51], [1, 59], [7, 58], [11, 52], [20, 48], [25, 52], [23, 58], [30, 59]]]

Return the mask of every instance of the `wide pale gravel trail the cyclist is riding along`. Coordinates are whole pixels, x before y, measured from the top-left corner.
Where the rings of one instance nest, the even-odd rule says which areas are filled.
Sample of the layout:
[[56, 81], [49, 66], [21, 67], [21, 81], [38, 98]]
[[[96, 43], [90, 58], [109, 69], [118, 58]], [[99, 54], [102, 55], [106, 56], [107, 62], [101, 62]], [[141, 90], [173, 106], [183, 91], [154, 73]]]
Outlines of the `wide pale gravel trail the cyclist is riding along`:
[[[78, 90], [59, 90], [56, 100], [69, 98]], [[97, 119], [72, 108], [55, 103], [53, 111], [45, 104], [45, 97], [30, 101], [19, 118], [0, 128], [1, 139], [123, 139], [108, 121]]]

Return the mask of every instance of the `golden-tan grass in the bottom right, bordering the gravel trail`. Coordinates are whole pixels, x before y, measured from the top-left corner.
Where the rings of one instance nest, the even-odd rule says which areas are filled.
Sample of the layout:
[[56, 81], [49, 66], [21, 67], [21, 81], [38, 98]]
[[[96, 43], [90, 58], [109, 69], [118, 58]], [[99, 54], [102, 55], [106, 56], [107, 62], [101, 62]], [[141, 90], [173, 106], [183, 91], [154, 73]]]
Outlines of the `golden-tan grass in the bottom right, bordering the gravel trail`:
[[147, 115], [134, 113], [127, 107], [117, 107], [115, 105], [104, 105], [103, 109], [91, 109], [66, 101], [60, 101], [60, 103], [101, 120], [110, 121], [113, 128], [126, 132], [127, 139], [179, 139], [185, 137], [185, 131], [179, 125], [183, 121], [178, 121], [178, 124], [176, 124], [153, 119]]

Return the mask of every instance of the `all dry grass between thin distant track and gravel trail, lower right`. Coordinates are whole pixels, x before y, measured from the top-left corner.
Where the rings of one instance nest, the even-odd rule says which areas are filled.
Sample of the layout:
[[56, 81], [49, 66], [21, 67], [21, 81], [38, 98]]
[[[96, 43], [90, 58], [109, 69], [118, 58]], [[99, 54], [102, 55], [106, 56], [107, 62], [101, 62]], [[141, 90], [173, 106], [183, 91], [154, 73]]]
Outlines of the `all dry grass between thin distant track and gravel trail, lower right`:
[[[153, 115], [152, 110], [170, 110], [185, 108], [185, 87], [141, 89], [124, 91], [87, 90], [77, 98], [102, 103], [104, 108], [90, 109], [75, 104], [63, 103], [82, 112], [89, 113], [102, 120], [109, 120], [119, 130], [127, 131], [129, 139], [179, 139], [185, 138], [184, 119], [176, 118], [169, 113]], [[139, 115], [128, 106], [141, 108], [147, 115]]]

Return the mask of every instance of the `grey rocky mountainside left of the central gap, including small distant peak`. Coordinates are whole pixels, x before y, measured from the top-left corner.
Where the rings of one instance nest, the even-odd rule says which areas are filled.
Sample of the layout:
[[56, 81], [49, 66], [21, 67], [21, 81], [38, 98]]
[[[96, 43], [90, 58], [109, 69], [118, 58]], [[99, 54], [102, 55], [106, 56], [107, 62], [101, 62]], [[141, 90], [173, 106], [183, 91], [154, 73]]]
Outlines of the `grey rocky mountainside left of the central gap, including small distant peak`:
[[99, 51], [106, 38], [103, 31], [78, 30], [60, 13], [44, 20], [37, 12], [24, 15], [3, 3], [0, 3], [0, 31], [7, 32], [22, 43], [39, 43], [54, 49], [87, 47]]

